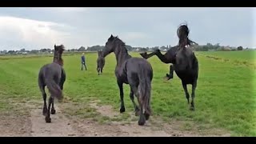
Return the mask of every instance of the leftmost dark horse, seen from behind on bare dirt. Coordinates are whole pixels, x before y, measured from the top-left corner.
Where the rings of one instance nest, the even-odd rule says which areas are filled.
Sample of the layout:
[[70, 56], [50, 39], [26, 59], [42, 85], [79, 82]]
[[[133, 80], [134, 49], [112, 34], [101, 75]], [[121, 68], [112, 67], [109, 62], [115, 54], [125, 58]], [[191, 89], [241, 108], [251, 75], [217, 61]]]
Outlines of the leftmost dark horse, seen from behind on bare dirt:
[[[54, 98], [59, 101], [62, 100], [62, 90], [64, 82], [66, 81], [66, 73], [63, 69], [62, 52], [64, 46], [54, 45], [54, 61], [50, 64], [42, 66], [38, 74], [38, 86], [42, 92], [42, 98], [44, 101], [42, 114], [46, 116], [46, 122], [50, 121], [50, 114], [55, 114], [54, 109]], [[48, 103], [48, 108], [46, 106], [46, 91], [45, 86], [48, 87], [50, 92], [50, 98]], [[50, 105], [52, 105], [50, 110]]]

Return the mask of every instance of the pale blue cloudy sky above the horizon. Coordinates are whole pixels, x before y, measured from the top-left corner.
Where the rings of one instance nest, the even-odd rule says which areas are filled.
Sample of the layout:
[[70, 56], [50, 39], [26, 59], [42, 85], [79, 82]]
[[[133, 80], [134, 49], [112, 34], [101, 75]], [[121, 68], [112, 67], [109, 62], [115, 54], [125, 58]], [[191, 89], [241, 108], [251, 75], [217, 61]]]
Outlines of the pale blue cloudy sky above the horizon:
[[134, 47], [175, 46], [183, 22], [199, 45], [256, 48], [256, 8], [2, 7], [0, 50], [105, 46], [111, 34]]

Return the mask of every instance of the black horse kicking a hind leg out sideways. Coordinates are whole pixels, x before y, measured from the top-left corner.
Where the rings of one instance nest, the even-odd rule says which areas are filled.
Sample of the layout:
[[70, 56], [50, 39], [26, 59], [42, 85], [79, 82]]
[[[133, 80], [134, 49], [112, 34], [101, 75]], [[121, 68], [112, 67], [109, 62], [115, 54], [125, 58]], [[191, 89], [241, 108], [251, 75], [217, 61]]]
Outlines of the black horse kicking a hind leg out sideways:
[[[160, 50], [155, 50], [151, 54], [142, 53], [143, 58], [150, 58], [157, 55], [164, 63], [173, 63], [170, 65], [170, 74], [166, 74], [168, 80], [173, 78], [174, 70], [178, 78], [182, 80], [182, 86], [186, 94], [188, 104], [190, 103], [190, 94], [187, 91], [186, 85], [192, 85], [192, 101], [190, 110], [194, 110], [195, 89], [198, 81], [198, 59], [190, 49], [190, 44], [193, 42], [188, 38], [189, 29], [186, 25], [179, 26], [177, 30], [179, 42], [178, 46], [171, 47], [166, 54], [161, 54]], [[193, 42], [195, 43], [195, 42]]]

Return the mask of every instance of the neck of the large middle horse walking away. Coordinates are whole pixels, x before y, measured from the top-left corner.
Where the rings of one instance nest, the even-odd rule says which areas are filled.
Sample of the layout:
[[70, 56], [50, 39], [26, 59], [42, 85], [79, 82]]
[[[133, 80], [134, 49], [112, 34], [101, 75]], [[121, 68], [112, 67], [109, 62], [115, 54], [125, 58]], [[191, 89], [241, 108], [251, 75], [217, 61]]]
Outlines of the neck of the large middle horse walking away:
[[131, 58], [130, 54], [128, 54], [126, 47], [122, 44], [118, 44], [116, 49], [114, 50], [115, 58], [117, 59], [117, 66], [121, 66], [123, 62], [127, 59]]

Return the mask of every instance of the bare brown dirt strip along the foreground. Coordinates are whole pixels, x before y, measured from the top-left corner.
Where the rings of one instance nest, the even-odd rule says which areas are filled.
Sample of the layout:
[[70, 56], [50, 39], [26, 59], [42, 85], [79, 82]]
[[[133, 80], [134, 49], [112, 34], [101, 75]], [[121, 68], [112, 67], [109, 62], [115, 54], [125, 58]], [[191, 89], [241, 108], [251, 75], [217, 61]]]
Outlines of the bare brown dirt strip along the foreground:
[[[33, 103], [33, 102], [31, 102]], [[179, 130], [178, 122], [164, 123], [160, 118], [151, 117], [145, 126], [138, 126], [138, 117], [133, 112], [127, 118], [113, 121], [111, 118], [122, 117], [111, 106], [98, 106], [98, 102], [90, 102], [100, 116], [110, 118], [108, 122], [99, 123], [92, 118], [77, 118], [62, 113], [65, 106], [55, 104], [56, 114], [52, 114], [51, 123], [45, 122], [41, 105], [27, 105], [29, 117], [5, 117], [0, 119], [0, 136], [32, 136], [32, 137], [172, 137], [172, 136], [230, 136], [230, 134], [199, 134], [196, 130]], [[39, 102], [38, 102], [39, 103]], [[70, 103], [68, 104], [70, 106]], [[60, 110], [61, 109], [61, 110]], [[72, 109], [73, 110], [73, 109]], [[75, 110], [75, 109], [74, 109]], [[23, 114], [24, 115], [24, 114]]]

